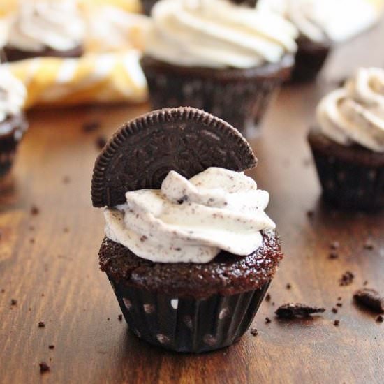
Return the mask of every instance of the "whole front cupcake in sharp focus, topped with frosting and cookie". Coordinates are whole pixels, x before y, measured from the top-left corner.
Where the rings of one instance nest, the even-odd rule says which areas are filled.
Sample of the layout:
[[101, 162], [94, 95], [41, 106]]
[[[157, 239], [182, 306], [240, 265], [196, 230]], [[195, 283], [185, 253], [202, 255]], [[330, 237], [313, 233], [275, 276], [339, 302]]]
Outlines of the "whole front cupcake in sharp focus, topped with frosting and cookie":
[[130, 330], [200, 353], [246, 332], [282, 258], [268, 193], [235, 128], [194, 108], [158, 110], [115, 133], [96, 160], [99, 251]]

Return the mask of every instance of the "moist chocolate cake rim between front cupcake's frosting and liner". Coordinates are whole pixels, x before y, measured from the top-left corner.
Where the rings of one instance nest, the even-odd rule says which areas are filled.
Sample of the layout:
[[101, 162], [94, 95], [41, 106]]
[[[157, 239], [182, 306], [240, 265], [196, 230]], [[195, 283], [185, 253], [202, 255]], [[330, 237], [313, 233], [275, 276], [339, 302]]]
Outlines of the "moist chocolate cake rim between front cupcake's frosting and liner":
[[278, 235], [263, 232], [263, 245], [249, 256], [219, 253], [207, 264], [153, 263], [105, 238], [99, 251], [101, 269], [128, 286], [175, 297], [235, 295], [260, 288], [272, 279], [283, 257]]

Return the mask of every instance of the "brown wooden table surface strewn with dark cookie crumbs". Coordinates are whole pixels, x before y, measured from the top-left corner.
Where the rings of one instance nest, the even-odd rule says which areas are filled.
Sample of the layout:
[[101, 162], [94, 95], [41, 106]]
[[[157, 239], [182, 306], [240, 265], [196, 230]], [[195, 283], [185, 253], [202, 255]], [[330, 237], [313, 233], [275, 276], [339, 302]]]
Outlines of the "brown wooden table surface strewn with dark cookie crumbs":
[[[215, 353], [175, 355], [138, 340], [118, 320], [115, 295], [98, 270], [103, 217], [89, 193], [96, 138], [148, 106], [29, 113], [13, 183], [0, 192], [0, 383], [383, 383], [384, 324], [357, 308], [352, 294], [364, 281], [384, 291], [384, 214], [323, 205], [305, 140], [325, 91], [357, 66], [383, 66], [383, 36], [382, 23], [339, 47], [317, 83], [285, 87], [263, 136], [251, 142], [259, 158], [252, 175], [271, 193], [269, 214], [286, 259], [269, 290], [271, 302], [253, 323], [258, 336], [247, 332]], [[82, 124], [95, 120], [100, 130], [84, 133]], [[364, 249], [368, 239], [373, 250]], [[334, 241], [339, 258], [331, 260]], [[355, 280], [339, 286], [346, 271]], [[343, 306], [334, 314], [337, 297]], [[284, 302], [327, 312], [277, 320], [274, 310]], [[50, 372], [40, 374], [42, 361]]]

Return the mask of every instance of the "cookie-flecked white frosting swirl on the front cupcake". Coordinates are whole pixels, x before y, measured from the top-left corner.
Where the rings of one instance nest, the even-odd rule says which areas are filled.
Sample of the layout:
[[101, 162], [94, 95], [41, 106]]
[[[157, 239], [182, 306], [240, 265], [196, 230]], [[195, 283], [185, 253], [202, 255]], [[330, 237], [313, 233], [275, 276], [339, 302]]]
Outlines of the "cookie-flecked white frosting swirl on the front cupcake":
[[187, 180], [175, 171], [161, 190], [126, 193], [105, 208], [105, 233], [141, 258], [160, 263], [207, 263], [221, 250], [246, 256], [275, 228], [265, 214], [269, 194], [243, 173], [208, 168]]

